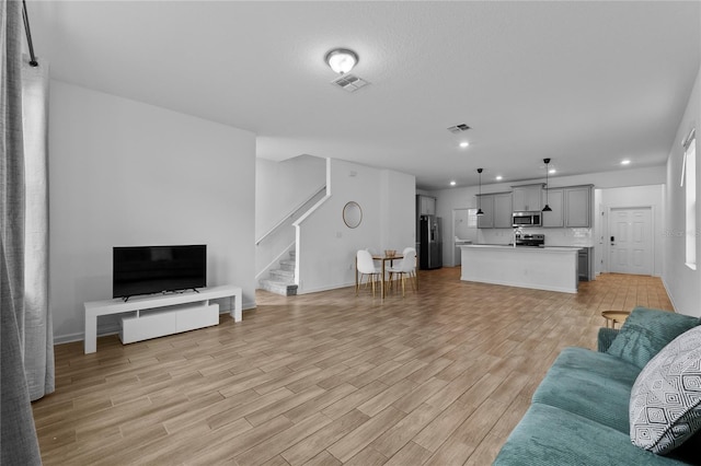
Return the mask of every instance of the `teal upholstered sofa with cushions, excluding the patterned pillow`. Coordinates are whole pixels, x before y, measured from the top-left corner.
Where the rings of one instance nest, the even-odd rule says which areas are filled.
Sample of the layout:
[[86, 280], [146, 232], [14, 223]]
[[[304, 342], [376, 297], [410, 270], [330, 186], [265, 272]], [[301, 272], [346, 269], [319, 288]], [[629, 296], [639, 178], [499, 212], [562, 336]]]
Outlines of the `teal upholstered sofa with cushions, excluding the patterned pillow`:
[[[701, 464], [699, 432], [688, 434], [690, 438], [671, 452], [656, 454], [632, 443], [629, 420], [631, 392], [643, 369], [678, 336], [689, 330], [701, 335], [701, 331], [697, 331], [701, 328], [694, 329], [699, 324], [699, 318], [636, 307], [620, 330], [600, 329], [598, 351], [565, 348], [537, 388], [531, 406], [494, 464]], [[665, 350], [660, 358], [667, 352], [669, 350]], [[697, 365], [699, 354], [701, 348], [691, 353]], [[701, 381], [701, 377], [691, 375], [688, 377], [689, 384]], [[693, 386], [691, 389], [692, 397], [701, 398], [701, 391], [694, 394]], [[635, 391], [640, 391], [640, 386]], [[691, 415], [699, 415], [698, 422], [691, 421], [692, 424], [697, 422], [698, 427], [701, 423], [701, 406], [691, 409], [698, 409], [691, 411]], [[637, 428], [637, 423], [634, 423]], [[639, 432], [647, 434], [650, 431], [633, 430], [634, 435]]]

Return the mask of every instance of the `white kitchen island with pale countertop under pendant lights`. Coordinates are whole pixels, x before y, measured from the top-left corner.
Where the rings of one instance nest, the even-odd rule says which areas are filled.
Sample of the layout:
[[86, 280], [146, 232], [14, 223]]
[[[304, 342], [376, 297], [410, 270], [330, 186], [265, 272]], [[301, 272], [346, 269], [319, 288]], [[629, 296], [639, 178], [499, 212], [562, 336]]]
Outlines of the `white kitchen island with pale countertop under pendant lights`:
[[576, 293], [578, 247], [472, 244], [462, 249], [461, 280]]

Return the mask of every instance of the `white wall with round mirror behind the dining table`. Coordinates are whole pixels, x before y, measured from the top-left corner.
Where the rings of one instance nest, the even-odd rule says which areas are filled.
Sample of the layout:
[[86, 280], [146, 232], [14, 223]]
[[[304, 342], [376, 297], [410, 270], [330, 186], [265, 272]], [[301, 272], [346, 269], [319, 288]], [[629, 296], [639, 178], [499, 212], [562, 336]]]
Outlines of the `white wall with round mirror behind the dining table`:
[[[329, 160], [329, 197], [298, 231], [298, 293], [355, 283], [355, 253], [363, 248], [402, 251], [413, 246], [415, 177], [340, 160]], [[363, 221], [343, 222], [343, 207], [356, 201]]]

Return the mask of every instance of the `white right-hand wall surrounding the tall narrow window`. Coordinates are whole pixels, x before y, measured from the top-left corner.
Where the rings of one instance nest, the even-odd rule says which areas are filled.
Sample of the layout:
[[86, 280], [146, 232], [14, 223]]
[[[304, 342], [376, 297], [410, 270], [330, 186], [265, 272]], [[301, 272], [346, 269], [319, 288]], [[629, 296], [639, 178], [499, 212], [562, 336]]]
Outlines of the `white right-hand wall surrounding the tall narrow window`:
[[[677, 136], [667, 159], [666, 221], [664, 238], [663, 281], [678, 313], [701, 316], [701, 282], [699, 270], [685, 265], [685, 189], [679, 186], [683, 149], [681, 141], [691, 128], [697, 129], [697, 160], [699, 160], [699, 125], [701, 124], [701, 68], [697, 75], [689, 104], [677, 129]], [[701, 219], [701, 163], [697, 162], [697, 221]], [[698, 231], [698, 230], [697, 230]], [[697, 233], [697, 252], [701, 252]]]

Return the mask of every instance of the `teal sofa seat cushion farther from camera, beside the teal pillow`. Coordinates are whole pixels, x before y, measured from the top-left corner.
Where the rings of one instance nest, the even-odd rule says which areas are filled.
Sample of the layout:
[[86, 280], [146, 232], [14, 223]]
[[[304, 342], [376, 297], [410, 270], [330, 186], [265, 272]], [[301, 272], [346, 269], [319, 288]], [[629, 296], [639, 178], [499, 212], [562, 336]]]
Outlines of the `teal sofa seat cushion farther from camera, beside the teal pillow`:
[[533, 394], [550, 405], [628, 434], [631, 387], [640, 369], [610, 354], [565, 348]]

